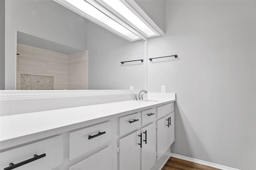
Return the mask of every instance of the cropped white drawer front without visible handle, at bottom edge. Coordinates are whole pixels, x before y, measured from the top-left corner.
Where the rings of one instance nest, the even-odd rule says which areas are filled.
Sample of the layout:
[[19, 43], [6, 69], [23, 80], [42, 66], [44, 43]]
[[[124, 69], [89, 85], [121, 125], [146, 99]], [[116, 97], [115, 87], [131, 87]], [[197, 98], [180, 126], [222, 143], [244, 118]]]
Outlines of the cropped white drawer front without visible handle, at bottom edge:
[[112, 147], [110, 146], [78, 162], [68, 170], [112, 170], [112, 157]]

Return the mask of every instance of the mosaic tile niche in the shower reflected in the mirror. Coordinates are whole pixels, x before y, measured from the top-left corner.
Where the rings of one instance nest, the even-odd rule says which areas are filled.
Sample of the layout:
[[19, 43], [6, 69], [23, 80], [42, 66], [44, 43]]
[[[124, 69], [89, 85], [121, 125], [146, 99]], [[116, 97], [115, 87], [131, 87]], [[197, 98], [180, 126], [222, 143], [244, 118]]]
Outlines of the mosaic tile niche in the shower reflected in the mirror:
[[20, 74], [20, 90], [54, 90], [54, 77]]

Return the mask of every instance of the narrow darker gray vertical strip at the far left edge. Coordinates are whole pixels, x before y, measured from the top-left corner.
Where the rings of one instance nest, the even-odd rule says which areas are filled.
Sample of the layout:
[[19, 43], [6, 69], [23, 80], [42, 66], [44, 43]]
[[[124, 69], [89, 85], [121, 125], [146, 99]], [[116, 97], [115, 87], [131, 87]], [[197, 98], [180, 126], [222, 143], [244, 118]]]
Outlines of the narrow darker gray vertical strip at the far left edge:
[[4, 90], [5, 0], [0, 0], [0, 90]]

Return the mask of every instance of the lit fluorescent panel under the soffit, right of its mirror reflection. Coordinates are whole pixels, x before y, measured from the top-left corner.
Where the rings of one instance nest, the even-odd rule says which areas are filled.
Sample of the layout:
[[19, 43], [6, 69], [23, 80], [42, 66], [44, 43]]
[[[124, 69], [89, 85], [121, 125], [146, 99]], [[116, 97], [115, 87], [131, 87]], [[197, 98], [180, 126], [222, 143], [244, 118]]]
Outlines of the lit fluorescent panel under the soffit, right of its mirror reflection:
[[146, 33], [148, 36], [156, 35], [150, 27], [148, 27], [140, 18], [138, 18], [132, 11], [130, 11], [120, 0], [103, 0], [106, 4], [108, 4], [111, 8], [116, 10], [119, 14], [121, 14], [124, 18], [130, 21], [133, 25], [135, 25], [138, 29]]

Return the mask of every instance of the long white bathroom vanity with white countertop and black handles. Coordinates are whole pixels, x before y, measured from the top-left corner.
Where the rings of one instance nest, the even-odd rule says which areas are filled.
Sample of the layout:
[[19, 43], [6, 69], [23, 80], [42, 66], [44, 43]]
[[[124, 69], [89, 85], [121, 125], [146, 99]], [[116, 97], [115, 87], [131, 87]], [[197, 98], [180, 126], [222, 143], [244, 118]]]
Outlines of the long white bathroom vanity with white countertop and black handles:
[[175, 101], [172, 94], [1, 116], [1, 170], [159, 169], [174, 142]]

